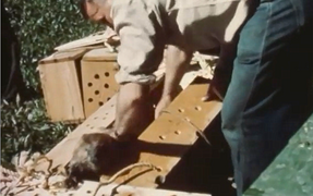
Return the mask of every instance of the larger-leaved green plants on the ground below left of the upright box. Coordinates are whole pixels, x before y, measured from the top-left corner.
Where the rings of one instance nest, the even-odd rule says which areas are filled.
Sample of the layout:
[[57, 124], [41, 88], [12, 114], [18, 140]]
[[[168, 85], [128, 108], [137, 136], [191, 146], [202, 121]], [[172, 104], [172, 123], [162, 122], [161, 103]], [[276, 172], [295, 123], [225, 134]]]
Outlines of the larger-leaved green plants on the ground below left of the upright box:
[[46, 118], [41, 99], [1, 105], [1, 164], [10, 164], [22, 150], [43, 151], [53, 147], [74, 125], [51, 123]]

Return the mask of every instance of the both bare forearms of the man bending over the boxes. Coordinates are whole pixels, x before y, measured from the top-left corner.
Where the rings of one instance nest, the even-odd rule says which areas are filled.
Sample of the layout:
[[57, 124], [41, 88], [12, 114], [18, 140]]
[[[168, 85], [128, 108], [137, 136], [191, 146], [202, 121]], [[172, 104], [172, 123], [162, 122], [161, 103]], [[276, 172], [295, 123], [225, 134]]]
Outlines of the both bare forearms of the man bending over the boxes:
[[[192, 52], [169, 46], [166, 58], [166, 79], [156, 115], [166, 108], [177, 95], [179, 83], [190, 63]], [[149, 86], [127, 83], [121, 86], [117, 101], [116, 134], [121, 139], [137, 137], [149, 121], [152, 106], [148, 99]]]

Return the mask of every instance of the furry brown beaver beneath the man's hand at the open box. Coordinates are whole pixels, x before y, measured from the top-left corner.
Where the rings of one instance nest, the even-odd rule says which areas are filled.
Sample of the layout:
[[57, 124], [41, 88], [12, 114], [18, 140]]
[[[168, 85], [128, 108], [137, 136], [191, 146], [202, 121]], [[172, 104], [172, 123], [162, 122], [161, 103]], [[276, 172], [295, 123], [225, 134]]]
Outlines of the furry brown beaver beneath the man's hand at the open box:
[[120, 160], [125, 144], [108, 132], [84, 134], [67, 166], [65, 186], [76, 187], [84, 179], [98, 180], [109, 173], [111, 166]]

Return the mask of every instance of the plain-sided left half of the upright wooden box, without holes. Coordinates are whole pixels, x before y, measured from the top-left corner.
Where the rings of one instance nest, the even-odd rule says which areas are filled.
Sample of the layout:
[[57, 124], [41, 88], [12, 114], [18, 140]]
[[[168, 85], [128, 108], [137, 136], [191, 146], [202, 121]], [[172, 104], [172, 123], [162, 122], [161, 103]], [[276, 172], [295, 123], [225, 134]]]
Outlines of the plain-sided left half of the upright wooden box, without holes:
[[80, 62], [87, 51], [86, 48], [59, 51], [39, 61], [47, 115], [52, 122], [85, 119]]

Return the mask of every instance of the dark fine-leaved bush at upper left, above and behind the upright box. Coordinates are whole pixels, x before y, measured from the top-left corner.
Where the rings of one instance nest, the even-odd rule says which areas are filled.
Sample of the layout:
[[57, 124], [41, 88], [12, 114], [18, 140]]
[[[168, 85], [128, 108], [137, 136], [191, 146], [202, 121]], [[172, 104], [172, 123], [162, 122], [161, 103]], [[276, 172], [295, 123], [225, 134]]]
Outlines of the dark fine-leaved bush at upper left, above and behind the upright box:
[[7, 0], [11, 24], [21, 42], [21, 65], [26, 84], [39, 89], [38, 60], [53, 48], [98, 32], [82, 17], [79, 0]]

